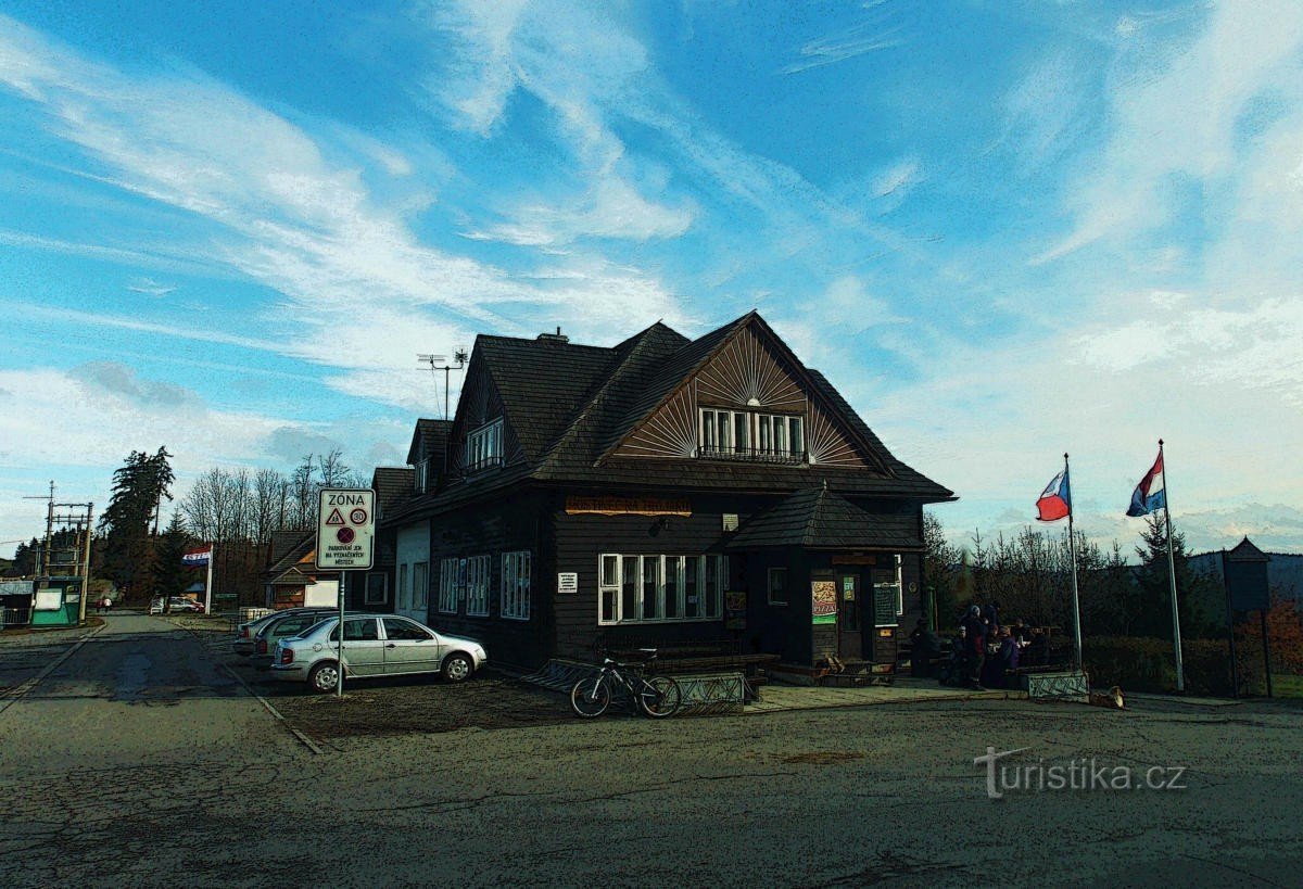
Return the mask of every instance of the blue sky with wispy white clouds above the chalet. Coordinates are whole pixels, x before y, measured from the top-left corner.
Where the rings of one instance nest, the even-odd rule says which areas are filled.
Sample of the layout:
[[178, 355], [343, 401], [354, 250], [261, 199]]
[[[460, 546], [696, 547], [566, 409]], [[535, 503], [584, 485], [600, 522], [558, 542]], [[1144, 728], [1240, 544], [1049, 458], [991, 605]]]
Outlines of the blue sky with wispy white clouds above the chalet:
[[1303, 551], [1299, 4], [5, 9], [0, 540], [133, 448], [401, 464], [476, 332], [757, 308], [956, 538], [1070, 451], [1130, 546], [1164, 437], [1195, 547]]

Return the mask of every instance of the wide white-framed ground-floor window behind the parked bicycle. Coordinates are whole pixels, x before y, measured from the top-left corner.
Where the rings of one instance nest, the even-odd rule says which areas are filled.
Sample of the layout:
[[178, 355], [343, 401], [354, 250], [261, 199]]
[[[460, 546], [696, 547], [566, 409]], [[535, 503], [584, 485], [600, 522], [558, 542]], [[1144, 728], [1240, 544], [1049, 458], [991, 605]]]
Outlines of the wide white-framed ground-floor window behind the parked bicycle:
[[717, 620], [728, 577], [723, 555], [598, 557], [598, 623]]

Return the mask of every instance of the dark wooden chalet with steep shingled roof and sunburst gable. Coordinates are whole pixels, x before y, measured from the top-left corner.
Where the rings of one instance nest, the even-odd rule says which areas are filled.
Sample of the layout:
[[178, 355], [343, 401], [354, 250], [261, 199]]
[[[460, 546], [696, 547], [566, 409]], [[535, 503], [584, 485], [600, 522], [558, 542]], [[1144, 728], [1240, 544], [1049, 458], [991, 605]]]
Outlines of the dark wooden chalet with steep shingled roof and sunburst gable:
[[891, 662], [923, 506], [954, 499], [754, 312], [611, 348], [481, 335], [408, 459], [380, 523], [395, 609], [524, 667], [645, 644]]

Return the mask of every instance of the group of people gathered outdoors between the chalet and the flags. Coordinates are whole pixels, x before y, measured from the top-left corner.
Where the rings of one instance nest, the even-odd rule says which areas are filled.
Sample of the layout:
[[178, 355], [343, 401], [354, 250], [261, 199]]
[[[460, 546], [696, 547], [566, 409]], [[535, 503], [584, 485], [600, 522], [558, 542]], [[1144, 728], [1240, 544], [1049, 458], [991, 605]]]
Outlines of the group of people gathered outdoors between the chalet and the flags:
[[[911, 640], [916, 670], [919, 663], [926, 663], [941, 653], [936, 634], [923, 620], [911, 634]], [[1020, 665], [1044, 662], [1046, 643], [1044, 631], [1028, 627], [1022, 619], [1011, 624], [1001, 623], [999, 602], [994, 600], [986, 605], [969, 605], [959, 619], [959, 632], [939, 678], [979, 691], [1005, 688], [1010, 673]]]

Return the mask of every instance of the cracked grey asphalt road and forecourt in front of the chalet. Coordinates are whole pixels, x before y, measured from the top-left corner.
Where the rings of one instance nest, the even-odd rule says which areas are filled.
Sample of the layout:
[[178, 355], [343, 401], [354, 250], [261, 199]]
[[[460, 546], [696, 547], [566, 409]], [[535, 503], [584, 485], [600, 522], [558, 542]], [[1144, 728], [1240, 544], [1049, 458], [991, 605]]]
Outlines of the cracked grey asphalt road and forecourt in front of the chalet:
[[[1303, 872], [1296, 707], [610, 718], [315, 756], [220, 660], [163, 619], [113, 615], [0, 712], [0, 885], [1293, 886]], [[1183, 789], [993, 800], [973, 764], [988, 746], [1042, 768], [1095, 757], [1110, 777], [1181, 769]]]

